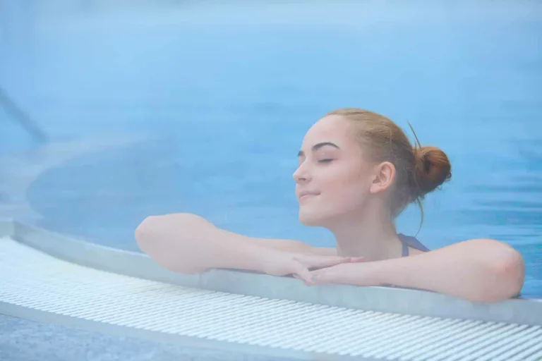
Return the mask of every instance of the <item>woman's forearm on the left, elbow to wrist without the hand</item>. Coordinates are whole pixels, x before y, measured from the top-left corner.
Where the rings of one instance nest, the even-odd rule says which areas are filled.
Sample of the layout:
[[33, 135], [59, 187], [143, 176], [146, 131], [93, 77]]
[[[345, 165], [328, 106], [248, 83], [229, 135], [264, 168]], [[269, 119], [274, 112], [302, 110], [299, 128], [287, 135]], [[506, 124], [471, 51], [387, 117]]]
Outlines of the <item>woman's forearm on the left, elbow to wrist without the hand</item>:
[[135, 230], [135, 240], [162, 267], [188, 274], [212, 268], [262, 271], [272, 252], [193, 214], [148, 217]]

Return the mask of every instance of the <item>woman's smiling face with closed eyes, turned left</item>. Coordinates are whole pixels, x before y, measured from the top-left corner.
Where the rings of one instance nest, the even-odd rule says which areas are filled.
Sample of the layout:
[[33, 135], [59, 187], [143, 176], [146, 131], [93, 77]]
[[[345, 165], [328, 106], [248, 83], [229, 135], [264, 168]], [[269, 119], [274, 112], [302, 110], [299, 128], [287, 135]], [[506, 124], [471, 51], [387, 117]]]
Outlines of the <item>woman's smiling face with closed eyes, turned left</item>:
[[359, 216], [370, 194], [372, 168], [342, 116], [316, 122], [303, 139], [294, 173], [301, 223], [325, 227]]

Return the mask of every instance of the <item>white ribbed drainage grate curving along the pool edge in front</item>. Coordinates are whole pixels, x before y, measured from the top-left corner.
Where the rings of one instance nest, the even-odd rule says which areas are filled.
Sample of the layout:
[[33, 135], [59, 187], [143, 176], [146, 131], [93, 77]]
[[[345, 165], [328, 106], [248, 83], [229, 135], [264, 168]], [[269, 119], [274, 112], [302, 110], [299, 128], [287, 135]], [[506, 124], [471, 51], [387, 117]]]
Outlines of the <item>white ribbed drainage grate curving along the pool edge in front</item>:
[[0, 239], [0, 274], [0, 301], [6, 304], [157, 334], [301, 351], [323, 359], [542, 360], [541, 326], [186, 288], [81, 267], [9, 238]]

